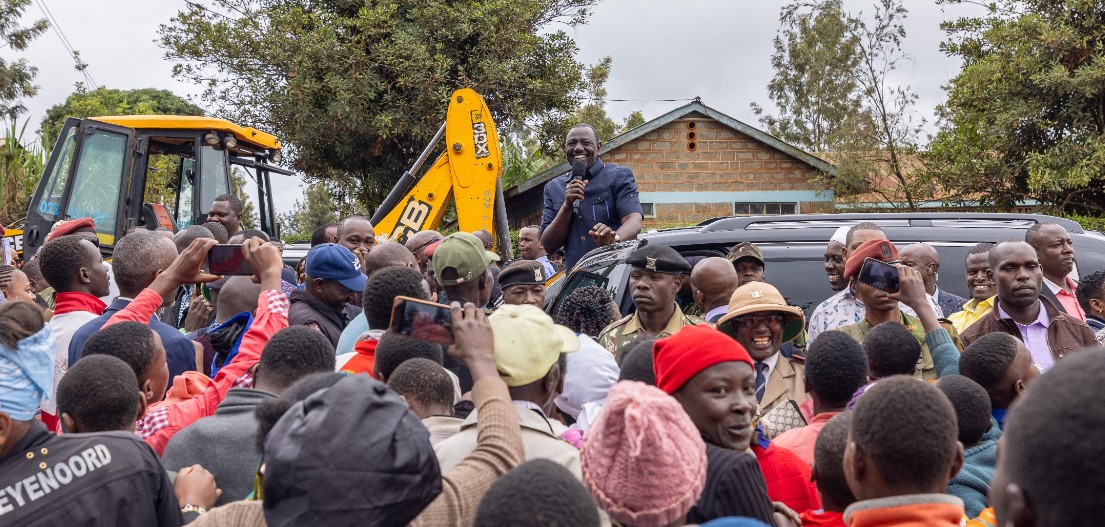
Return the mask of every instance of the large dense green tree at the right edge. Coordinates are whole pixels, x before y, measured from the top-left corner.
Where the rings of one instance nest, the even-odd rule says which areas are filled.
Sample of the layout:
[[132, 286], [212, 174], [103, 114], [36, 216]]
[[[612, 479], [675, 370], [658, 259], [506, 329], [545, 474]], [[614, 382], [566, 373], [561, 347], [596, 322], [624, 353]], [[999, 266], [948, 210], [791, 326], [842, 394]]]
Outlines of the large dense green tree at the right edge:
[[1002, 0], [944, 24], [941, 48], [964, 67], [926, 164], [957, 200], [1105, 211], [1103, 11], [1099, 0]]

